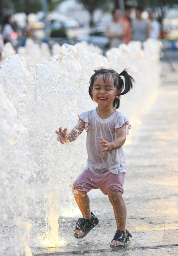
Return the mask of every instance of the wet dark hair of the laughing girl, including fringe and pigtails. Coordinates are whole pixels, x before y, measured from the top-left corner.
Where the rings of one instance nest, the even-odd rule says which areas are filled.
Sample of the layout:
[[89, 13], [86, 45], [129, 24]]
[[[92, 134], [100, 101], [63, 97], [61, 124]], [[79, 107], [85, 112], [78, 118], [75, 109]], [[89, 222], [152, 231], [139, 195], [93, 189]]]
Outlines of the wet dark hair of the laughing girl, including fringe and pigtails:
[[[94, 84], [95, 80], [100, 75], [103, 75], [104, 82], [111, 76], [114, 79], [114, 87], [117, 90], [119, 90], [119, 89], [123, 90], [123, 92], [121, 92], [120, 94], [116, 94], [116, 96], [124, 95], [124, 94], [128, 93], [130, 91], [130, 89], [132, 89], [132, 84], [134, 82], [134, 79], [127, 73], [126, 69], [124, 69], [120, 74], [118, 74], [113, 69], [106, 69], [104, 67], [94, 70], [94, 72], [95, 72], [94, 75], [92, 75], [92, 77], [90, 78], [89, 89], [88, 89], [89, 95], [92, 100], [93, 100], [93, 94], [91, 92], [91, 88], [93, 88], [93, 84]], [[124, 80], [121, 78], [121, 75], [123, 75], [123, 77], [125, 79], [125, 87], [124, 87]], [[115, 109], [118, 109], [119, 106], [120, 106], [120, 97], [118, 99], [115, 98], [113, 101], [113, 107]]]

